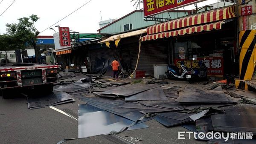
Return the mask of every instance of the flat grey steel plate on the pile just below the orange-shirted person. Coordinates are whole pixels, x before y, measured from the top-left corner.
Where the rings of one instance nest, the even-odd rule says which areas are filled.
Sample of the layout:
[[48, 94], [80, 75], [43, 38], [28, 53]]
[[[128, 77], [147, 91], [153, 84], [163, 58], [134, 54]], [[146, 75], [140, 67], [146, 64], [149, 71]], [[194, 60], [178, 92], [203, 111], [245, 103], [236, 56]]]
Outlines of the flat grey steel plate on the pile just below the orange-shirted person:
[[163, 86], [163, 85], [160, 85], [160, 84], [132, 84], [132, 85], [125, 86], [125, 89], [124, 88], [111, 89], [111, 90], [102, 92], [101, 94], [131, 96], [131, 95], [135, 95], [137, 93], [144, 92], [149, 89], [154, 89], [154, 88], [157, 88], [160, 86]]

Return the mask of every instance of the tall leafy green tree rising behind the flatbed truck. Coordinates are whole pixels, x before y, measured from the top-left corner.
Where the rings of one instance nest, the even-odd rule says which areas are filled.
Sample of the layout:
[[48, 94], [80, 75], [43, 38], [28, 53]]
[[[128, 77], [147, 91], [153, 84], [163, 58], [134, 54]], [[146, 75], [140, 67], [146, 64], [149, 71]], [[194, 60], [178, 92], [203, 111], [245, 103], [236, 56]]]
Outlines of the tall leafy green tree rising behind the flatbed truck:
[[18, 19], [18, 23], [6, 24], [7, 35], [17, 40], [16, 46], [24, 47], [27, 44], [31, 44], [35, 49], [36, 62], [39, 63], [41, 59], [40, 48], [36, 46], [37, 36], [40, 32], [35, 28], [35, 22], [38, 21], [39, 17], [32, 14], [29, 17], [22, 17]]

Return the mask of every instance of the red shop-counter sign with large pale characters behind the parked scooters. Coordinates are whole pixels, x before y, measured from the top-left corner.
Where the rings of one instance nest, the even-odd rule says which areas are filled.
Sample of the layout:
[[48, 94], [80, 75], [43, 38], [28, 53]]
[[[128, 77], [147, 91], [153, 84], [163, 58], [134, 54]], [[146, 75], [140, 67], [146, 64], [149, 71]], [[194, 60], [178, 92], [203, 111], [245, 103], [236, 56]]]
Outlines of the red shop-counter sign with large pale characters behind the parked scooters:
[[[199, 68], [199, 61], [204, 58], [197, 58], [197, 60], [184, 60], [184, 65], [188, 68]], [[207, 67], [207, 75], [224, 75], [224, 59], [222, 57], [206, 58], [204, 60]], [[175, 66], [181, 69], [181, 60], [175, 59]]]

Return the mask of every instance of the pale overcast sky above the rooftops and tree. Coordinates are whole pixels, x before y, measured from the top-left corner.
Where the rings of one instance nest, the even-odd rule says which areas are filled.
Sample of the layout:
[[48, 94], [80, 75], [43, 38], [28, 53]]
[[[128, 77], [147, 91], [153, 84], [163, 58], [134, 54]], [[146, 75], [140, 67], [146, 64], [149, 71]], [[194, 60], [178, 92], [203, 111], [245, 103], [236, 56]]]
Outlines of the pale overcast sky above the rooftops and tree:
[[[0, 0], [1, 2], [2, 0]], [[0, 3], [0, 14], [2, 14], [14, 0], [3, 0]], [[15, 0], [12, 6], [0, 16], [0, 34], [6, 33], [6, 23], [17, 23], [19, 17], [29, 17], [36, 14], [40, 19], [35, 27], [42, 32], [52, 24], [61, 20], [71, 12], [78, 9], [90, 0]], [[134, 0], [137, 1], [137, 0]], [[198, 3], [198, 6], [205, 6], [216, 3], [217, 0], [207, 0]], [[136, 9], [131, 0], [92, 0], [69, 17], [55, 24], [63, 27], [70, 27], [70, 30], [80, 33], [95, 33], [99, 29], [99, 21], [118, 19]], [[195, 6], [188, 6], [186, 9], [194, 9]], [[52, 28], [55, 28], [52, 26]], [[57, 28], [55, 28], [58, 31]], [[40, 35], [52, 35], [54, 32], [47, 29]]]

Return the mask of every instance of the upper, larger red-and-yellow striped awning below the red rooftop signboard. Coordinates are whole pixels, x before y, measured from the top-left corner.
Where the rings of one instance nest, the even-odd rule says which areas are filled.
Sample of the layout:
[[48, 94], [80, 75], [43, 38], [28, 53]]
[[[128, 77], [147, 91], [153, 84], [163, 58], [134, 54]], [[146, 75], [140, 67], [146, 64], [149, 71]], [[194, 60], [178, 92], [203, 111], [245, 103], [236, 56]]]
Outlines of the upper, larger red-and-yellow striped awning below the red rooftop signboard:
[[171, 20], [154, 26], [149, 26], [147, 28], [147, 35], [157, 34], [160, 32], [167, 32], [174, 29], [181, 29], [189, 26], [202, 25], [205, 23], [212, 23], [215, 21], [226, 20], [233, 17], [236, 17], [235, 6], [225, 7], [222, 9], [216, 9], [201, 14]]

